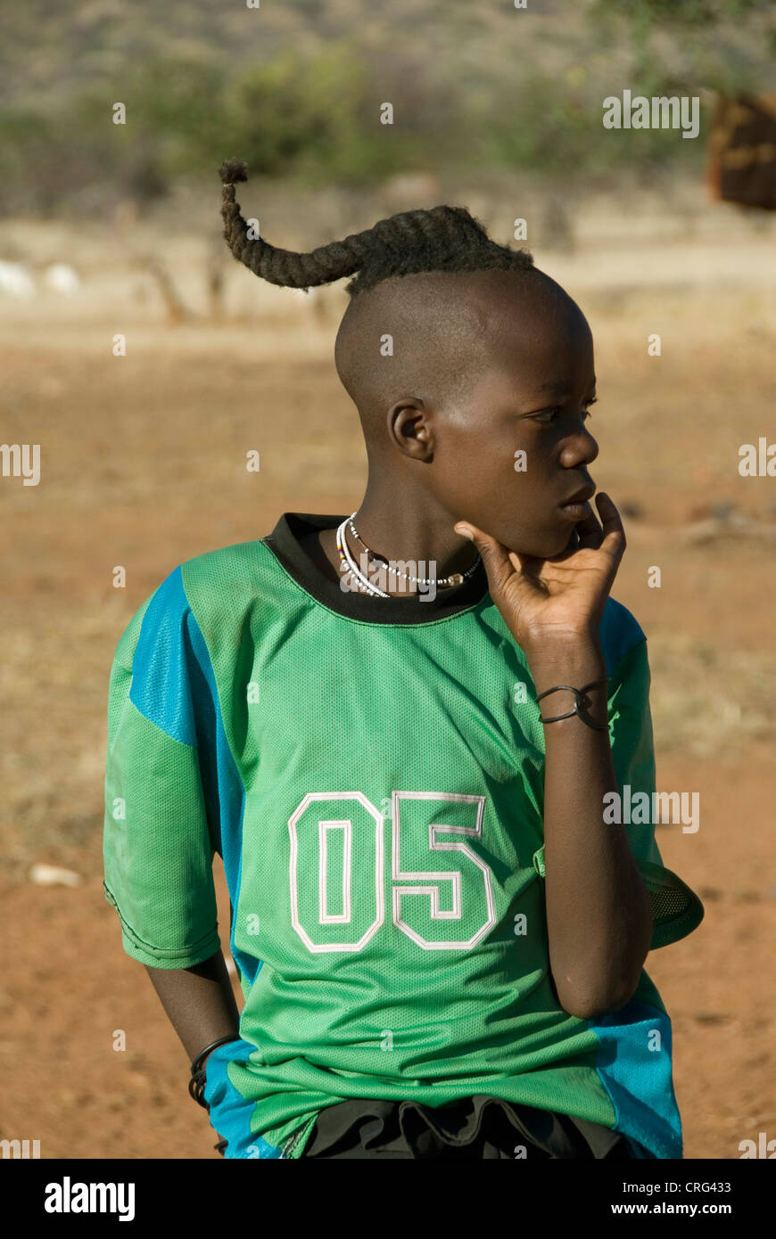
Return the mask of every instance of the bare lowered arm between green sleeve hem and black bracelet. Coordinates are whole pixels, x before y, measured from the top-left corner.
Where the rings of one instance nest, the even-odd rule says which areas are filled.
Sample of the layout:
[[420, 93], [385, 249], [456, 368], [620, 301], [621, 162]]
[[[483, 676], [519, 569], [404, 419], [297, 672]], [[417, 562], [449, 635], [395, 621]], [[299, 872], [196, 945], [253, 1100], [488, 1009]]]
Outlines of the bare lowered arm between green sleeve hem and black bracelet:
[[239, 1011], [223, 952], [193, 968], [148, 968], [167, 1017], [190, 1061], [200, 1051], [239, 1031]]

